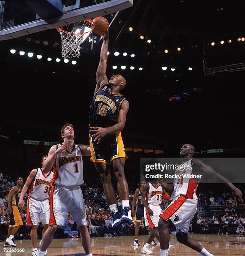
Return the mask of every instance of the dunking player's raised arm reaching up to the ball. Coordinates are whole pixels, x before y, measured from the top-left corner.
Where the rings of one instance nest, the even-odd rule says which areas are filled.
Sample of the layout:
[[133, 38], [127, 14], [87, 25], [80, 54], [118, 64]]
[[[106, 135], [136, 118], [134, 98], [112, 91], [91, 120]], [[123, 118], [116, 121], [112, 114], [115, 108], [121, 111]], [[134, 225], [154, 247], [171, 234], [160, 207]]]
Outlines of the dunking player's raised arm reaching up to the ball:
[[[96, 87], [95, 93], [100, 88], [102, 83], [107, 83], [108, 79], [105, 75], [106, 67], [107, 67], [107, 52], [108, 52], [108, 44], [109, 44], [109, 31], [103, 35], [103, 43], [100, 50], [100, 63], [96, 72]], [[94, 93], [94, 95], [95, 95]]]

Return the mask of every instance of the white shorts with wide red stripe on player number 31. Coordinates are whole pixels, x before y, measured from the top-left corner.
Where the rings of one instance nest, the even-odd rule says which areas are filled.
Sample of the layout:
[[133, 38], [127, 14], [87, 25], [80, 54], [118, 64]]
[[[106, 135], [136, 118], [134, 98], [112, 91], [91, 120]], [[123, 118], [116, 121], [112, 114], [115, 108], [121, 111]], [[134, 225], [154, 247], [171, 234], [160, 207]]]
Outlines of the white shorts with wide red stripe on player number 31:
[[198, 198], [190, 199], [183, 195], [175, 198], [173, 202], [160, 215], [164, 220], [171, 220], [178, 229], [188, 233], [190, 221], [193, 219], [198, 206]]

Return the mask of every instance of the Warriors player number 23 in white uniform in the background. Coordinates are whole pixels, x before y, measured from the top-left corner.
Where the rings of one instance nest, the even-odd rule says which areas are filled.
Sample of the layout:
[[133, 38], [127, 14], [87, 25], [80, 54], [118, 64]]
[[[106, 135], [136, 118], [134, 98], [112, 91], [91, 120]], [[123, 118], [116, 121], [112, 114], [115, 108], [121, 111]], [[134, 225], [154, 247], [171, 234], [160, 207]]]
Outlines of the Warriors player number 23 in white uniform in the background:
[[[153, 241], [154, 237], [160, 241], [158, 233], [158, 221], [159, 215], [161, 214], [160, 204], [162, 200], [169, 199], [168, 193], [163, 189], [158, 183], [157, 179], [151, 179], [149, 183], [145, 184], [142, 192], [142, 201], [145, 206], [144, 216], [145, 216], [145, 226], [150, 226], [153, 228], [153, 232], [150, 234], [147, 243], [142, 248], [142, 252], [146, 254], [153, 254], [153, 251], [150, 251], [150, 243]], [[168, 247], [170, 251], [173, 248], [173, 245]]]

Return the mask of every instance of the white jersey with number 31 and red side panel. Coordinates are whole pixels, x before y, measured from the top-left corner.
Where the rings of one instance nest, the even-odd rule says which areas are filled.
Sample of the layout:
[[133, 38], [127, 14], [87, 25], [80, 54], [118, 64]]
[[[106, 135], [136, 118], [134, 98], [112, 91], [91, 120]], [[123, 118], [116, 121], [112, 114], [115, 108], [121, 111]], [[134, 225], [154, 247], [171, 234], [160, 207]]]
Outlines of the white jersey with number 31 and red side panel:
[[[191, 166], [192, 164], [192, 160], [193, 159], [190, 159], [188, 160], [187, 162], [183, 163], [185, 164], [186, 166]], [[193, 170], [192, 168], [187, 168], [187, 169], [184, 169], [184, 170], [176, 170], [175, 174], [192, 174], [193, 173]], [[171, 197], [174, 199], [176, 197], [178, 197], [179, 195], [184, 195], [185, 197], [187, 198], [197, 198], [197, 195], [196, 195], [196, 190], [197, 190], [197, 187], [198, 187], [198, 183], [199, 181], [197, 179], [193, 179], [193, 178], [184, 178], [183, 175], [180, 177], [180, 179], [178, 178], [175, 178], [174, 179], [174, 190], [173, 190], [173, 193], [171, 195]]]

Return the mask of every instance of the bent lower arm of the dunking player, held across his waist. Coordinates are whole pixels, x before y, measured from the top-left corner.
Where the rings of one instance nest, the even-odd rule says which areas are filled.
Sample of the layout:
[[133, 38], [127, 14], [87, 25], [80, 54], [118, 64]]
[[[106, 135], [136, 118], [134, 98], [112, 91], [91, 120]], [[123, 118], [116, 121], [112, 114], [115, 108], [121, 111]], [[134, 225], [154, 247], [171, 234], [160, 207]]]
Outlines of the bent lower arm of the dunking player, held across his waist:
[[121, 108], [118, 114], [118, 121], [115, 125], [107, 128], [102, 128], [102, 127], [91, 128], [90, 131], [94, 132], [92, 135], [92, 138], [95, 138], [94, 141], [97, 141], [97, 144], [99, 144], [101, 138], [103, 138], [106, 134], [118, 133], [119, 131], [122, 131], [126, 123], [126, 115], [128, 113], [128, 110], [129, 110], [129, 102], [128, 100], [124, 100], [121, 104]]

